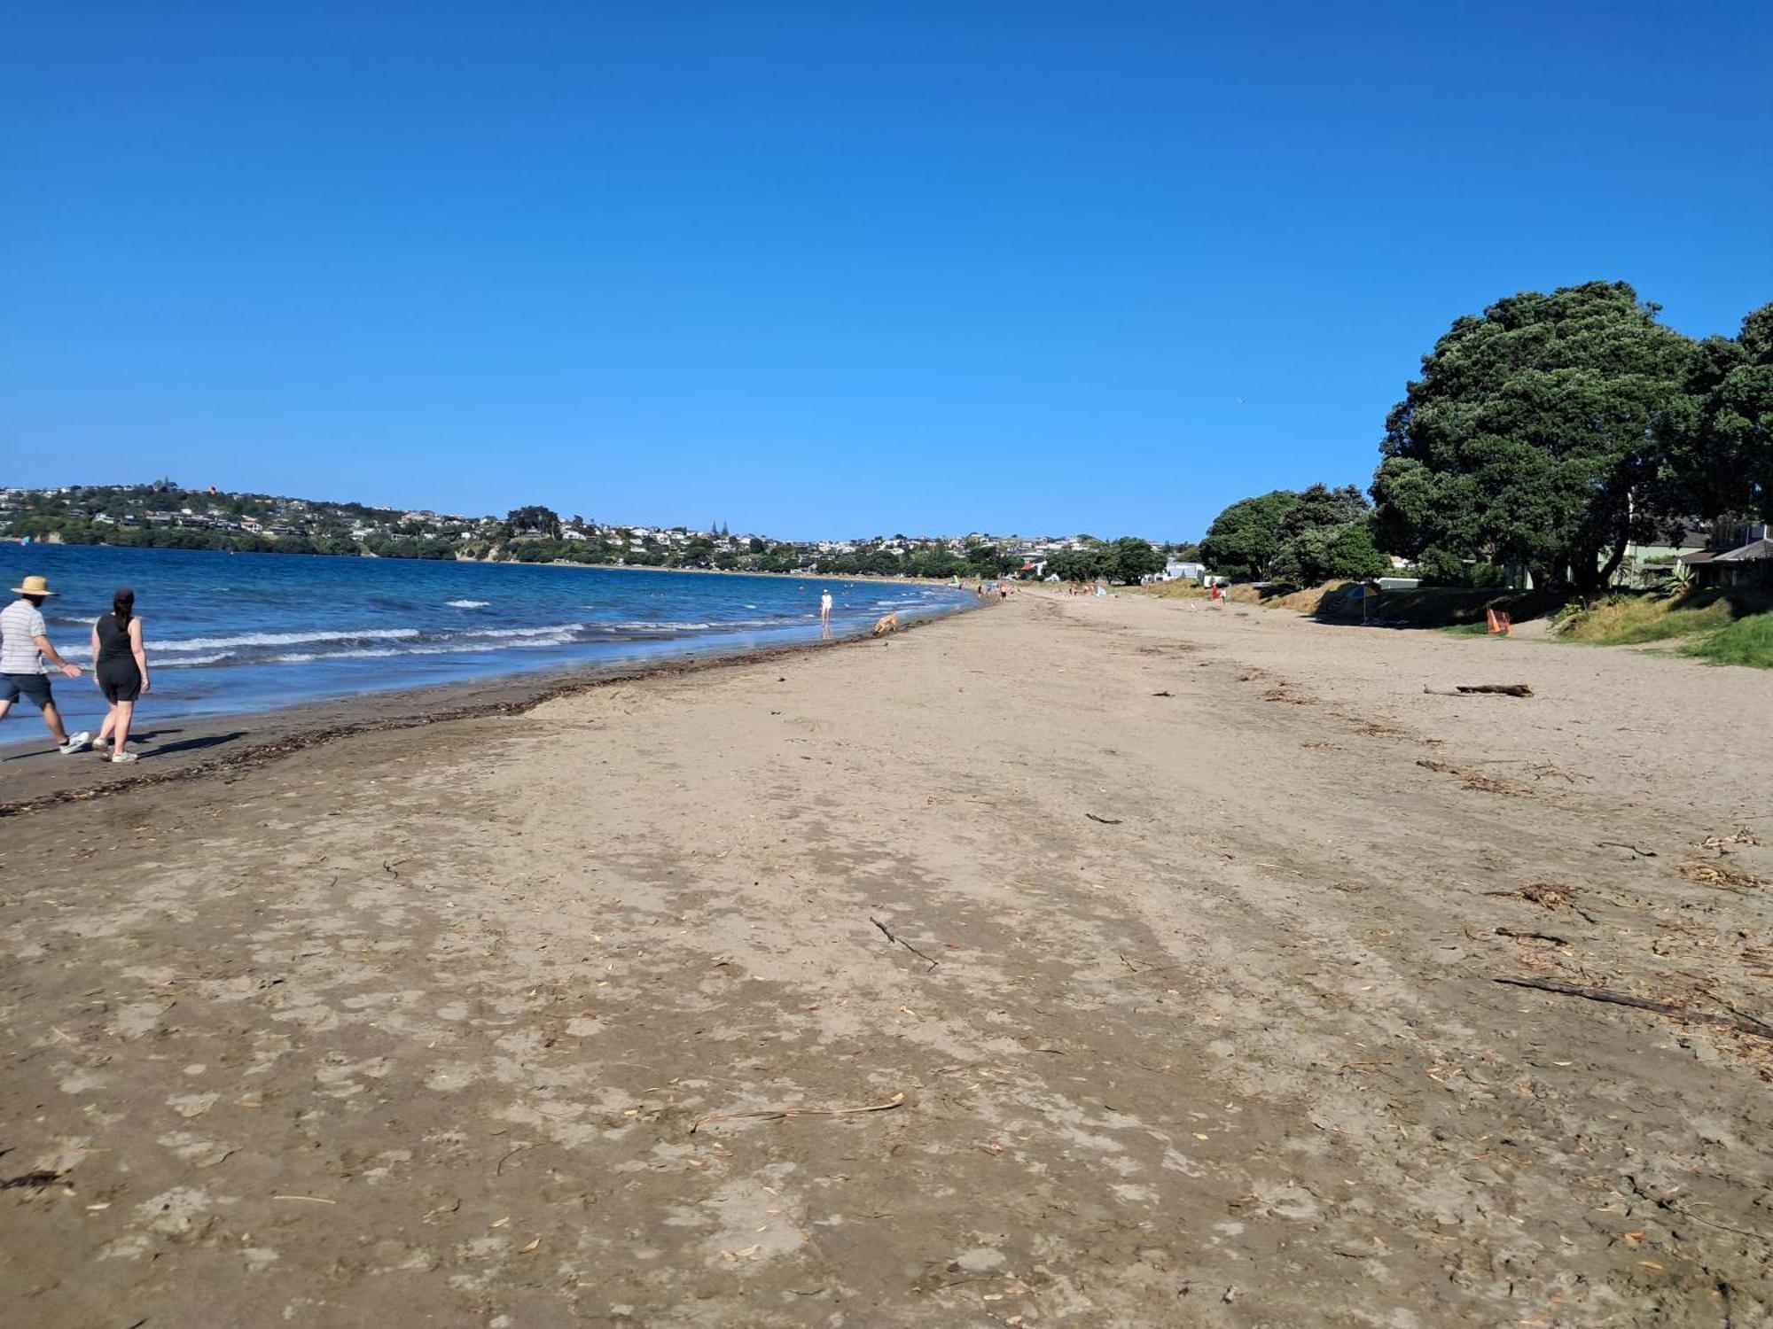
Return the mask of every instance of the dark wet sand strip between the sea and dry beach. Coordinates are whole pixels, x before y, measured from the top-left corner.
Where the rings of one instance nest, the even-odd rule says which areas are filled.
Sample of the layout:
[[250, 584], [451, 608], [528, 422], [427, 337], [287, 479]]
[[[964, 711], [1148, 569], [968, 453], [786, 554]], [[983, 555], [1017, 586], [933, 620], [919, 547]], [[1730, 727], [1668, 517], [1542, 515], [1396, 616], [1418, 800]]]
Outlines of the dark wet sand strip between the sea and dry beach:
[[[913, 618], [901, 626], [897, 634], [902, 636], [920, 627], [963, 617], [977, 608], [984, 608], [984, 604], [980, 601], [977, 606], [963, 604], [952, 611]], [[25, 817], [62, 803], [87, 803], [129, 790], [200, 780], [222, 771], [255, 769], [282, 757], [358, 734], [422, 728], [426, 725], [484, 719], [489, 716], [521, 716], [546, 702], [601, 688], [761, 664], [775, 659], [810, 656], [833, 647], [855, 647], [872, 641], [876, 638], [867, 633], [856, 633], [837, 636], [830, 641], [791, 641], [777, 647], [686, 652], [640, 666], [626, 663], [582, 668], [562, 666], [560, 670], [535, 673], [493, 675], [488, 679], [465, 679], [461, 682], [418, 688], [390, 688], [387, 691], [365, 691], [321, 702], [298, 702], [264, 711], [229, 711], [179, 716], [163, 721], [156, 721], [152, 714], [147, 714], [138, 718], [135, 735], [140, 735], [144, 742], [151, 737], [165, 737], [168, 734], [176, 739], [174, 742], [154, 744], [142, 751], [144, 762], [152, 762], [147, 771], [142, 769], [144, 762], [119, 767], [101, 762], [85, 751], [62, 757], [53, 746], [48, 746], [48, 734], [43, 734], [43, 737], [0, 744], [0, 773], [5, 776], [5, 792], [9, 796], [0, 799], [0, 820]], [[468, 696], [479, 700], [468, 702], [465, 700]], [[18, 711], [16, 721], [34, 723], [41, 732], [41, 721], [35, 712]], [[170, 760], [170, 766], [161, 769], [161, 760]], [[28, 762], [30, 766], [14, 769], [14, 764], [20, 762]], [[21, 787], [27, 792], [14, 797], [14, 790]]]

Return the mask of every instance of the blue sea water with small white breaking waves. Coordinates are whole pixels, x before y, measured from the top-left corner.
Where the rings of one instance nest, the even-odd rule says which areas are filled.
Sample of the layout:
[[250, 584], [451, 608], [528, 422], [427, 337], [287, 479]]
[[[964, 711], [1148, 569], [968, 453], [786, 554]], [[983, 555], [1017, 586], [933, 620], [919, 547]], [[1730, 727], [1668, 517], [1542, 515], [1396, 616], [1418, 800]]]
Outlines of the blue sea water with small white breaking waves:
[[[142, 618], [156, 718], [271, 707], [466, 679], [622, 666], [819, 638], [819, 592], [833, 636], [883, 613], [924, 618], [973, 602], [949, 587], [812, 576], [697, 576], [617, 567], [445, 563], [397, 558], [229, 555], [188, 549], [0, 544], [0, 599], [27, 574], [59, 592], [50, 638], [90, 663], [92, 620], [131, 587]], [[71, 725], [105, 702], [89, 673], [55, 677]], [[28, 705], [0, 742], [35, 727]]]

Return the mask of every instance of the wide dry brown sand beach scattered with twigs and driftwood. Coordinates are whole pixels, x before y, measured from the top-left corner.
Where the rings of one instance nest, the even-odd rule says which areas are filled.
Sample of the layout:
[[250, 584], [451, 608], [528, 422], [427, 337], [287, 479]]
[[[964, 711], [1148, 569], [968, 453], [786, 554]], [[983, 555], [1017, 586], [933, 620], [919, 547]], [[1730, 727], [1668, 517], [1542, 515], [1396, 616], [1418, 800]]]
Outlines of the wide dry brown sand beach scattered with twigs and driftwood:
[[1769, 718], [1025, 595], [7, 817], [0, 1318], [1764, 1324], [1773, 1042], [1493, 978], [1769, 1017]]

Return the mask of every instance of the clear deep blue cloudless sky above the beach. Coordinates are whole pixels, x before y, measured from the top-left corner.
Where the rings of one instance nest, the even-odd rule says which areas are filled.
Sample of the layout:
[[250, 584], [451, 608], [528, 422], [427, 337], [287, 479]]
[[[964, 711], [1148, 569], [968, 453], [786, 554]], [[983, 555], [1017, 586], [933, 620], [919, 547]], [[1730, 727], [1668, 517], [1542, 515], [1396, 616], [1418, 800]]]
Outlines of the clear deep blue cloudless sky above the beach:
[[1459, 314], [1773, 299], [1773, 5], [16, 4], [0, 484], [1199, 535]]

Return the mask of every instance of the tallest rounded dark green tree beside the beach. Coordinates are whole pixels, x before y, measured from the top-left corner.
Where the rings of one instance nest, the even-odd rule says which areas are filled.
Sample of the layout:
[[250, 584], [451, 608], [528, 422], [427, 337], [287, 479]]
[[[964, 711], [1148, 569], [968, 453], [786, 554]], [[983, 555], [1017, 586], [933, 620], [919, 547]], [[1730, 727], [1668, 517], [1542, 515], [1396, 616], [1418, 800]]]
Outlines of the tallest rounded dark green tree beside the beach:
[[1672, 516], [1661, 436], [1697, 347], [1624, 282], [1525, 292], [1452, 324], [1388, 420], [1381, 544], [1429, 565], [1605, 585]]

